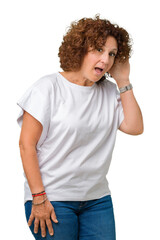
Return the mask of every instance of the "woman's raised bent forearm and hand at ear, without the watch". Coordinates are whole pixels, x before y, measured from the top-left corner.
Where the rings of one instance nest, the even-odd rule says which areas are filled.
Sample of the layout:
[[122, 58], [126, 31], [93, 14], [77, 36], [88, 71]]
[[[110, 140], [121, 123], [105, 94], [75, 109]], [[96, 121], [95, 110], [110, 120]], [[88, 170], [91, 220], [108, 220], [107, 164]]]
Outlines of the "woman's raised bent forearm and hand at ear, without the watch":
[[[118, 88], [123, 88], [130, 84], [130, 63], [127, 59], [124, 63], [117, 61], [110, 69], [109, 73], [115, 79]], [[140, 107], [135, 99], [133, 90], [129, 90], [120, 94], [124, 120], [119, 130], [122, 132], [138, 135], [143, 133], [143, 117]]]

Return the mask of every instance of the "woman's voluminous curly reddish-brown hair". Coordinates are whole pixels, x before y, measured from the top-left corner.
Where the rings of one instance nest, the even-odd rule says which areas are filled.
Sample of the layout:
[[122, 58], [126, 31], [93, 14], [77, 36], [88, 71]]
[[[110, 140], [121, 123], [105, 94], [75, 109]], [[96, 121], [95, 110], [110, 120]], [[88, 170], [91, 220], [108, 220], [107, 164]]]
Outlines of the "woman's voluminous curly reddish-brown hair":
[[117, 40], [118, 52], [115, 61], [118, 59], [125, 62], [130, 58], [131, 38], [124, 28], [112, 24], [109, 20], [100, 19], [99, 15], [95, 15], [94, 19], [82, 18], [72, 22], [59, 47], [60, 67], [64, 71], [78, 71], [89, 47], [94, 49], [103, 47], [108, 36], [113, 36]]

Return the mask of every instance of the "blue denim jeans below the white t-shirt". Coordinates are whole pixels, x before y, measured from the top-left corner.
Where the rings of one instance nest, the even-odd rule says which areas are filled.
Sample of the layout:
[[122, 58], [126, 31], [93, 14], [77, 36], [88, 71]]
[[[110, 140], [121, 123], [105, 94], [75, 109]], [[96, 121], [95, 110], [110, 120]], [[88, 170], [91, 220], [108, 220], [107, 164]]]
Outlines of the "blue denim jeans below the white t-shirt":
[[[34, 221], [30, 230], [35, 239], [42, 240], [115, 240], [115, 220], [111, 195], [88, 201], [51, 201], [58, 219], [52, 221], [54, 235], [46, 228], [46, 237], [41, 230], [34, 233]], [[27, 222], [32, 202], [25, 203]]]

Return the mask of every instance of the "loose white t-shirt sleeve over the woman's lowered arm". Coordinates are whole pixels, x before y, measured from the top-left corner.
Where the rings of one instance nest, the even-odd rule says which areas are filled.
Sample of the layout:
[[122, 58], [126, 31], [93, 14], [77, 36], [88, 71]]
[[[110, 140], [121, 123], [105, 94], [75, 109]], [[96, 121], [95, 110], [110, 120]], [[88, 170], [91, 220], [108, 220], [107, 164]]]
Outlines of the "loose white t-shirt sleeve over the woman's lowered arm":
[[24, 110], [37, 119], [43, 126], [41, 137], [37, 143], [39, 147], [47, 137], [50, 124], [50, 94], [45, 79], [39, 79], [17, 101], [20, 112], [17, 123], [22, 127]]

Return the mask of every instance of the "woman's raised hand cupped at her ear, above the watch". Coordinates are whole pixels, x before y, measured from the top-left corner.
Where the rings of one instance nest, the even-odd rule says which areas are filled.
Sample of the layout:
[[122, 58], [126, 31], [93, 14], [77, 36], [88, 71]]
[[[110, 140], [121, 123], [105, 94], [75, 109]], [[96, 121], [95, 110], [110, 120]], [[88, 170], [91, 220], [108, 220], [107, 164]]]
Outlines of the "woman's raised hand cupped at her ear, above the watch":
[[118, 87], [124, 87], [129, 83], [130, 63], [129, 59], [125, 63], [121, 63], [118, 60], [108, 71], [116, 81]]

